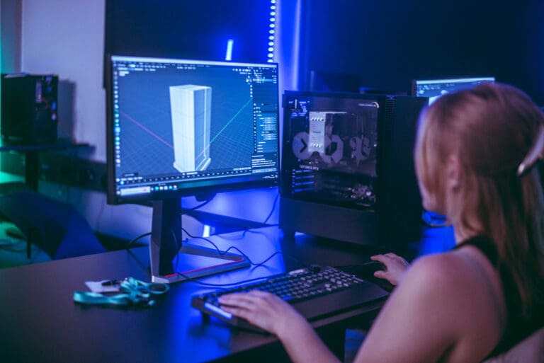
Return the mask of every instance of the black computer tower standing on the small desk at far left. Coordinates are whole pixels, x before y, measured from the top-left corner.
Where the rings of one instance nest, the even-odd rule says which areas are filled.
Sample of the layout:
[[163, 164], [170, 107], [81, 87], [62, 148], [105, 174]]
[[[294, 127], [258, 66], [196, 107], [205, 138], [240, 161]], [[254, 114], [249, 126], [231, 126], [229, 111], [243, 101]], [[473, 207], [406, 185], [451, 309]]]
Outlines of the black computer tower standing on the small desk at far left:
[[1, 134], [7, 142], [52, 144], [57, 141], [58, 76], [3, 74]]

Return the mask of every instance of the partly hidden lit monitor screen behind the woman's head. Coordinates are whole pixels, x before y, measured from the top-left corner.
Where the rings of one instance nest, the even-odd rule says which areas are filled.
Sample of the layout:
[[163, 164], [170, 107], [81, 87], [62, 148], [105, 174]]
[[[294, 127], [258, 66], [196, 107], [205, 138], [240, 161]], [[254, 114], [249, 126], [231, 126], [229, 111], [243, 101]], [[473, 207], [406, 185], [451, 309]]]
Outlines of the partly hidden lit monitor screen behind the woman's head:
[[455, 79], [415, 80], [412, 96], [429, 97], [429, 105], [436, 98], [462, 88], [470, 88], [477, 83], [494, 82], [494, 77], [471, 77]]

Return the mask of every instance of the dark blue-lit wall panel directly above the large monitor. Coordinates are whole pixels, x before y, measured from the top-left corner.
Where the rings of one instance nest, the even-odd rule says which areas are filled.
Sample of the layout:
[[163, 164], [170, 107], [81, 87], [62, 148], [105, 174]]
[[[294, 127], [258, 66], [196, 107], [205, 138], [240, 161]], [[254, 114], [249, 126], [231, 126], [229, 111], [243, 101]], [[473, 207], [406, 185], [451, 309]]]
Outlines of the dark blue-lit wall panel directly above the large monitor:
[[106, 0], [106, 54], [267, 62], [270, 0]]

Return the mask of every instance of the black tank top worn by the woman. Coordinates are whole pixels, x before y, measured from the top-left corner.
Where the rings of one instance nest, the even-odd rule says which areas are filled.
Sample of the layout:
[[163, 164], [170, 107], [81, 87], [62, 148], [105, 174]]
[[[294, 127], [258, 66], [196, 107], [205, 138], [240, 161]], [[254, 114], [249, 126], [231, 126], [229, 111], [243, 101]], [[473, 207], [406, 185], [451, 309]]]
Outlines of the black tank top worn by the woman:
[[499, 355], [502, 352], [506, 352], [511, 347], [516, 345], [521, 340], [531, 335], [538, 328], [544, 326], [544, 313], [543, 309], [537, 311], [538, 316], [531, 318], [523, 317], [521, 314], [521, 297], [519, 290], [514, 282], [514, 278], [509, 270], [509, 267], [501, 263], [499, 260], [499, 254], [497, 248], [492, 240], [487, 236], [475, 236], [459, 243], [453, 249], [458, 249], [463, 246], [475, 246], [487, 257], [489, 263], [491, 263], [499, 272], [499, 276], [502, 282], [502, 289], [504, 294], [504, 301], [506, 301], [506, 328], [504, 335], [497, 347], [494, 348], [489, 357]]

